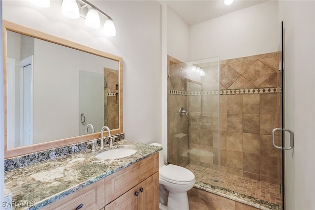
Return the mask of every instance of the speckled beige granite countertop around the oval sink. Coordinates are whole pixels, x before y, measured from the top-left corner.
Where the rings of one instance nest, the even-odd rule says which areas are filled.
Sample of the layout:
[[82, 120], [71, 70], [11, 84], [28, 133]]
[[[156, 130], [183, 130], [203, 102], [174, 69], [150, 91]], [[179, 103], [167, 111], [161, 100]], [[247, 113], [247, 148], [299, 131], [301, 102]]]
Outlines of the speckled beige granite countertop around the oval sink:
[[13, 209], [37, 210], [161, 150], [127, 140], [115, 142], [113, 149], [126, 145], [136, 147], [137, 152], [119, 159], [95, 158], [109, 150], [106, 145], [104, 150], [85, 150], [5, 172], [5, 188], [12, 193]]

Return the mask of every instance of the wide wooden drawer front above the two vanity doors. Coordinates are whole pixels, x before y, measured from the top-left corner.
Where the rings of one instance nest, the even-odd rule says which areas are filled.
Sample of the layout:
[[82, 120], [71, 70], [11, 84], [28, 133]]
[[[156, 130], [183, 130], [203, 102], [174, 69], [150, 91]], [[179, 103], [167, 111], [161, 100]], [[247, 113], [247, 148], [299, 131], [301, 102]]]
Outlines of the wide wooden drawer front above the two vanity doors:
[[158, 152], [105, 178], [105, 205], [158, 172]]

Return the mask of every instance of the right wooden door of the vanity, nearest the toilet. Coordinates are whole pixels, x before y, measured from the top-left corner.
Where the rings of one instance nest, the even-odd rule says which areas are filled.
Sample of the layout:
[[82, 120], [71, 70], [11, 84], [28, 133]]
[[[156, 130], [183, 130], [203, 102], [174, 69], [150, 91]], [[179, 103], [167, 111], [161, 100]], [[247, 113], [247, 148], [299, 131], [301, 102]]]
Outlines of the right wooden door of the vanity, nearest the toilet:
[[138, 210], [158, 210], [158, 172], [142, 181], [137, 187]]

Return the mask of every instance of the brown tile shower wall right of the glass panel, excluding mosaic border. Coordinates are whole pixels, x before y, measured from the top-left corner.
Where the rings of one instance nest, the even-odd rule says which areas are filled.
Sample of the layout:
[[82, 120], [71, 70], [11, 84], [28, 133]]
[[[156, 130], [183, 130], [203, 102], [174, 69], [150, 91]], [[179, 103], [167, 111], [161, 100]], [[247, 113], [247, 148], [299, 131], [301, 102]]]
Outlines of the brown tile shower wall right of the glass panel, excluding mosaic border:
[[[221, 90], [278, 87], [278, 60], [277, 52], [222, 60]], [[221, 171], [278, 183], [281, 157], [271, 132], [281, 123], [279, 94], [221, 95]]]

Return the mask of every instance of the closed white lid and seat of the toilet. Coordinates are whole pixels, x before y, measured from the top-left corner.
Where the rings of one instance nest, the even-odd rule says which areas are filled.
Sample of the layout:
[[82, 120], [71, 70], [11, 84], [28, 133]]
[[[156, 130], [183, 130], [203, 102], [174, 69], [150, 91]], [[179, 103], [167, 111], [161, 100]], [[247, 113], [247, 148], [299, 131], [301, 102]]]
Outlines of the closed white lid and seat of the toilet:
[[158, 170], [159, 178], [175, 184], [190, 184], [195, 181], [194, 174], [181, 166], [168, 164]]

